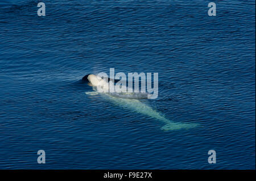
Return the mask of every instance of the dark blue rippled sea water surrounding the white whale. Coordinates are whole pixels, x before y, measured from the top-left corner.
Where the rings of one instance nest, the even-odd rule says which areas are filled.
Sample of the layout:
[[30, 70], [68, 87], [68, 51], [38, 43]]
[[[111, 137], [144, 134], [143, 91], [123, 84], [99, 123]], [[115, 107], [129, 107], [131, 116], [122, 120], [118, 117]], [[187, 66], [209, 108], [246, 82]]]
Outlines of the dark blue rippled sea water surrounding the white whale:
[[[255, 1], [0, 4], [0, 169], [255, 169]], [[159, 73], [163, 123], [86, 95], [101, 71]], [[46, 164], [37, 151], [46, 151]], [[214, 149], [217, 163], [208, 163]]]

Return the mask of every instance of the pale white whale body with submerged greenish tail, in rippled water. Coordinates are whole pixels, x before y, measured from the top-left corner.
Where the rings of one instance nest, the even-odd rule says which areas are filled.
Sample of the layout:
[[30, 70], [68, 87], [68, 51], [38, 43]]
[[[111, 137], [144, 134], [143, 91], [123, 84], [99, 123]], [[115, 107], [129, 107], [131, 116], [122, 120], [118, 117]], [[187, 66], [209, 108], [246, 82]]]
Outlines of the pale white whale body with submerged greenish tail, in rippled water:
[[[161, 113], [158, 111], [152, 109], [150, 106], [147, 106], [146, 104], [142, 103], [138, 99], [127, 99], [125, 96], [114, 96], [113, 94], [108, 94], [106, 92], [98, 92], [96, 87], [97, 86], [105, 86], [105, 89], [108, 89], [108, 82], [104, 81], [104, 79], [101, 79], [100, 77], [90, 74], [88, 76], [89, 85], [93, 86], [92, 92], [85, 92], [87, 95], [102, 95], [105, 99], [110, 100], [110, 102], [113, 102], [115, 105], [125, 108], [130, 111], [134, 111], [137, 113], [141, 113], [143, 115], [146, 115], [148, 117], [154, 118], [156, 120], [162, 121], [165, 125], [161, 128], [164, 131], [170, 131], [170, 130], [177, 130], [177, 129], [189, 129], [189, 128], [195, 128], [198, 124], [196, 123], [175, 123], [173, 121], [170, 121], [164, 117]], [[125, 93], [125, 94], [131, 94], [131, 93]]]

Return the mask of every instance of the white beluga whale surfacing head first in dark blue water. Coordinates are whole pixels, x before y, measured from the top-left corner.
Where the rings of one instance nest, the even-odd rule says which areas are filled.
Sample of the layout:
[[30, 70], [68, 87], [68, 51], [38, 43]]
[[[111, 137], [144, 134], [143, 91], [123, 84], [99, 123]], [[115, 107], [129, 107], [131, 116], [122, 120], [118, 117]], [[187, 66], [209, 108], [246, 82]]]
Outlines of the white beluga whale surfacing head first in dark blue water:
[[88, 85], [93, 87], [93, 91], [85, 92], [86, 95], [101, 95], [116, 106], [159, 120], [164, 124], [161, 128], [163, 131], [190, 129], [199, 125], [197, 123], [179, 123], [168, 120], [162, 113], [141, 101], [141, 99], [150, 97], [147, 92], [109, 92], [110, 83], [114, 84], [118, 80], [88, 74], [82, 78], [82, 81], [87, 81]]

